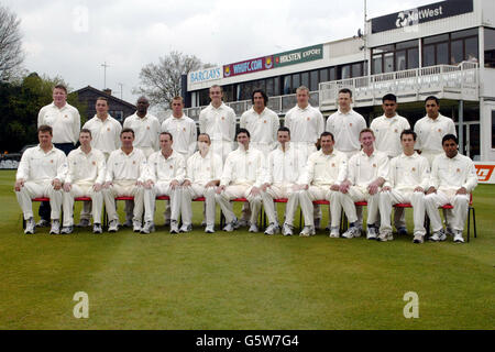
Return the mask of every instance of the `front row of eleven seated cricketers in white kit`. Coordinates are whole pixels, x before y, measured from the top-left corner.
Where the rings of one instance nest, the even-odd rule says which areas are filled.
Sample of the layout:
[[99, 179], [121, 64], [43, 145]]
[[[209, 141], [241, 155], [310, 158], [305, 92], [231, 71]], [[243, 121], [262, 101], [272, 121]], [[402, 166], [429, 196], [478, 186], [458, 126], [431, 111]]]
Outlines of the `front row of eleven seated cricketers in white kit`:
[[[231, 152], [224, 166], [213, 154], [208, 134], [198, 136], [198, 152], [186, 161], [174, 152], [173, 136], [160, 135], [161, 150], [146, 160], [133, 146], [134, 132], [123, 129], [121, 148], [113, 151], [108, 161], [98, 150], [91, 148], [91, 132], [81, 130], [80, 147], [66, 158], [52, 144], [52, 129], [38, 129], [40, 145], [26, 150], [18, 168], [15, 194], [26, 220], [25, 233], [34, 233], [32, 199], [48, 197], [52, 205], [50, 233], [72, 233], [74, 200], [89, 197], [92, 200], [94, 232], [101, 233], [101, 208], [105, 201], [109, 218], [109, 232], [119, 229], [116, 197], [134, 198], [133, 230], [154, 231], [156, 197], [170, 199], [170, 233], [193, 229], [191, 200], [205, 198], [207, 233], [215, 232], [216, 204], [226, 216], [224, 231], [239, 228], [232, 209], [232, 199], [246, 198], [252, 215], [249, 231], [258, 232], [256, 218], [263, 205], [268, 227], [265, 234], [284, 235], [294, 232], [295, 212], [300, 204], [305, 227], [300, 235], [316, 233], [314, 226], [315, 200], [330, 202], [330, 237], [340, 237], [342, 209], [350, 228], [343, 238], [361, 235], [360, 213], [354, 202], [367, 202], [366, 238], [393, 240], [391, 213], [396, 204], [410, 204], [414, 211], [414, 242], [422, 243], [426, 234], [425, 213], [431, 219], [432, 241], [443, 241], [447, 235], [438, 208], [453, 206], [449, 226], [454, 241], [463, 242], [470, 193], [477, 185], [473, 162], [458, 153], [458, 140], [448, 134], [442, 140], [444, 154], [433, 161], [431, 173], [428, 161], [415, 151], [416, 133], [406, 130], [400, 134], [403, 154], [389, 160], [374, 148], [374, 133], [364, 129], [360, 134], [362, 150], [349, 161], [345, 154], [333, 148], [333, 135], [323, 132], [321, 150], [306, 161], [302, 153], [290, 144], [290, 131], [280, 128], [278, 145], [267, 156], [250, 147], [250, 133], [241, 129], [239, 147]], [[287, 199], [284, 223], [278, 223], [274, 199]], [[64, 223], [61, 230], [61, 207]], [[144, 223], [142, 223], [144, 213]], [[361, 216], [362, 217], [362, 216]], [[178, 220], [183, 226], [179, 228]]]

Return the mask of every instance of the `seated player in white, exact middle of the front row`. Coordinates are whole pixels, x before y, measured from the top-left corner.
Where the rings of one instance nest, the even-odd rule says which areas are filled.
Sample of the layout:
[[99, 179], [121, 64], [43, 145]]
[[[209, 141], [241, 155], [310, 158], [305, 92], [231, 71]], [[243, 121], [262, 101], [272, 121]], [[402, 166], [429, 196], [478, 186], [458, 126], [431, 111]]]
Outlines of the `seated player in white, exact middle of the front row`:
[[266, 162], [262, 152], [250, 147], [248, 130], [240, 129], [237, 140], [239, 147], [227, 157], [215, 198], [226, 216], [227, 226], [223, 231], [231, 232], [239, 227], [230, 200], [246, 198], [251, 206], [249, 232], [257, 232], [256, 219], [262, 206], [261, 186]]

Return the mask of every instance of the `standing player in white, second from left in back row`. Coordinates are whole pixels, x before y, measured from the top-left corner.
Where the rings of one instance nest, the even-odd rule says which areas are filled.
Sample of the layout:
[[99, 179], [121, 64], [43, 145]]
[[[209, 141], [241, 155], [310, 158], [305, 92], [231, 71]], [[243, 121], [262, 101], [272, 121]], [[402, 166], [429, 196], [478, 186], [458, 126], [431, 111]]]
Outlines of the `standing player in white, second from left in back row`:
[[[105, 97], [97, 98], [96, 116], [86, 121], [82, 129], [91, 131], [91, 147], [103, 153], [108, 160], [110, 153], [120, 147], [120, 132], [122, 125], [108, 113], [108, 99]], [[129, 207], [129, 206], [128, 206]], [[129, 217], [130, 215], [128, 215]], [[91, 217], [91, 206], [89, 201], [85, 201], [80, 212], [80, 221], [77, 224], [80, 228], [89, 227]], [[131, 221], [131, 219], [129, 219]], [[132, 222], [131, 222], [132, 223]], [[130, 226], [130, 223], [127, 223]]]

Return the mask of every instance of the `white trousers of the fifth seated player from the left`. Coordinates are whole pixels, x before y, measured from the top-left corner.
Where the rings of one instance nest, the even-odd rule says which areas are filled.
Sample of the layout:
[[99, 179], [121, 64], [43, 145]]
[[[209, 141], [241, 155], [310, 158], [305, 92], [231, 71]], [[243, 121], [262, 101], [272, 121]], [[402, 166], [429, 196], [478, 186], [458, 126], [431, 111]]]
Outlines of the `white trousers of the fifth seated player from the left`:
[[217, 204], [215, 202], [215, 190], [217, 187], [205, 188], [205, 185], [191, 184], [190, 187], [183, 187], [180, 215], [184, 224], [193, 223], [193, 199], [205, 197], [206, 213], [205, 221], [207, 226], [215, 226], [215, 211]]

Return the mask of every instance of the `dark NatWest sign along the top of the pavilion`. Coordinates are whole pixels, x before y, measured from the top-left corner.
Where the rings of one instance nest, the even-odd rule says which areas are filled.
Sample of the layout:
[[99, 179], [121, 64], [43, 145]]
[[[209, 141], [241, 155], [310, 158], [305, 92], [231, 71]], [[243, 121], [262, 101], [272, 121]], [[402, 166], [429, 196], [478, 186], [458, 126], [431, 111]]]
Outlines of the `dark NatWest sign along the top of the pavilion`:
[[473, 12], [473, 0], [448, 0], [372, 19], [372, 33]]

